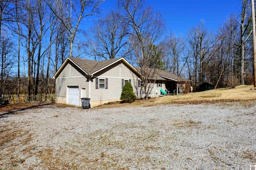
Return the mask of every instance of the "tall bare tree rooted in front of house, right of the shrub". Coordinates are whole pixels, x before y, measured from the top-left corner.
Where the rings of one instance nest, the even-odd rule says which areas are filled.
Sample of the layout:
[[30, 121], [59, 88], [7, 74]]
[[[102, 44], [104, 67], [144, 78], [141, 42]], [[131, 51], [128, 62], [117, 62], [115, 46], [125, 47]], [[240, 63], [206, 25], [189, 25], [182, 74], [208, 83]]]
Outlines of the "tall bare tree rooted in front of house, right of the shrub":
[[127, 24], [129, 29], [129, 43], [134, 56], [130, 60], [140, 68], [142, 88], [145, 98], [148, 98], [156, 80], [155, 74], [159, 71], [158, 61], [162, 59], [162, 56], [155, 58], [156, 55], [153, 54], [159, 51], [155, 47], [157, 47], [157, 43], [160, 43], [165, 22], [161, 14], [153, 12], [152, 8], [146, 6], [143, 0], [119, 0], [118, 8], [121, 15], [126, 18], [120, 22]]

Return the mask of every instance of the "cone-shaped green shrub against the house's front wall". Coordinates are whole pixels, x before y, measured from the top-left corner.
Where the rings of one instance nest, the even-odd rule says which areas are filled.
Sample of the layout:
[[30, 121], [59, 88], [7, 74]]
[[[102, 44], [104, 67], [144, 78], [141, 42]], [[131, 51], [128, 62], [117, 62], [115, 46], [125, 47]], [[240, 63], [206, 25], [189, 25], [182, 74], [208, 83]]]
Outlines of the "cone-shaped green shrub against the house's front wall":
[[124, 87], [122, 89], [120, 100], [124, 103], [132, 103], [136, 99], [136, 96], [133, 92], [132, 84], [130, 82], [127, 82], [124, 84]]

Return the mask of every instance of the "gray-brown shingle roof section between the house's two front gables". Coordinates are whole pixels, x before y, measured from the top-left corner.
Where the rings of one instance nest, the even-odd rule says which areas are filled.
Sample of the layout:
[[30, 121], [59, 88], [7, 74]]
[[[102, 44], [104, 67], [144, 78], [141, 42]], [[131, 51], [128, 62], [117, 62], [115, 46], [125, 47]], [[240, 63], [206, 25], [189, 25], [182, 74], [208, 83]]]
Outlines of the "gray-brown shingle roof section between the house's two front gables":
[[69, 57], [74, 63], [76, 63], [80, 68], [82, 68], [88, 74], [92, 74], [105, 66], [108, 66], [111, 63], [119, 60], [120, 58], [104, 60], [104, 61], [94, 61], [94, 60], [87, 60], [87, 59], [78, 59], [74, 57]]

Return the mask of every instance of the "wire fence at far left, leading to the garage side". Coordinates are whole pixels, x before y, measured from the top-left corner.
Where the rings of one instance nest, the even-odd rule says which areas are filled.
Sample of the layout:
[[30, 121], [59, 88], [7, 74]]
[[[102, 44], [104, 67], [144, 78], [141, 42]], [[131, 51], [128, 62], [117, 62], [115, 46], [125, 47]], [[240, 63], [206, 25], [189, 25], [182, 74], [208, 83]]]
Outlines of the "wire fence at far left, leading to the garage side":
[[30, 103], [30, 102], [55, 102], [55, 94], [36, 96], [1, 96], [0, 104]]

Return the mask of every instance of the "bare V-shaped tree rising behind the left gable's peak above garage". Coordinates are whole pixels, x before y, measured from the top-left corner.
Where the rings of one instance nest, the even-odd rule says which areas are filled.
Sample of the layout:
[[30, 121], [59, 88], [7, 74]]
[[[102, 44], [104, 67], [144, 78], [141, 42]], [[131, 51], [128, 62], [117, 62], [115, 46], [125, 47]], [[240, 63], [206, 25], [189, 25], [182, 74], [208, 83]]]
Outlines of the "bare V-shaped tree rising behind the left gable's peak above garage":
[[52, 12], [62, 22], [68, 32], [70, 51], [72, 57], [73, 42], [76, 37], [80, 21], [87, 16], [95, 15], [98, 6], [103, 0], [52, 0], [46, 1]]

